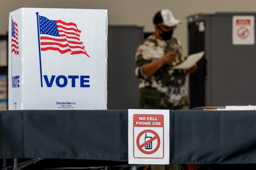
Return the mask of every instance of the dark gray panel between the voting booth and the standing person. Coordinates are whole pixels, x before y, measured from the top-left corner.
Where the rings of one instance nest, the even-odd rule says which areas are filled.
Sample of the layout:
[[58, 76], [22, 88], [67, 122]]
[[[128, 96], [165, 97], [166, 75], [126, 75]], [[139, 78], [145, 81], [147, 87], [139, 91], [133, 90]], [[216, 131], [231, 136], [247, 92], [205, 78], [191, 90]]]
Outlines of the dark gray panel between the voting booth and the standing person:
[[108, 109], [139, 108], [139, 79], [134, 74], [135, 53], [143, 28], [108, 27]]

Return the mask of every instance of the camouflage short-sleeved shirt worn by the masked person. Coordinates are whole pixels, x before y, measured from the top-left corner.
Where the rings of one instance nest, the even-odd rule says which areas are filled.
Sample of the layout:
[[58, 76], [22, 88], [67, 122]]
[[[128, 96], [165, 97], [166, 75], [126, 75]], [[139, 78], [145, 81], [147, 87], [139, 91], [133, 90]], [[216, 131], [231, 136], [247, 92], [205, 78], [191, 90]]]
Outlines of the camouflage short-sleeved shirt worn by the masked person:
[[[147, 78], [142, 66], [161, 58], [167, 52], [175, 52], [178, 55], [176, 60], [162, 66], [153, 76]], [[135, 60], [135, 74], [140, 78], [139, 104], [142, 108], [179, 109], [189, 104], [185, 86], [186, 71], [172, 69], [185, 60], [179, 40], [171, 38], [164, 41], [152, 34], [139, 45]]]

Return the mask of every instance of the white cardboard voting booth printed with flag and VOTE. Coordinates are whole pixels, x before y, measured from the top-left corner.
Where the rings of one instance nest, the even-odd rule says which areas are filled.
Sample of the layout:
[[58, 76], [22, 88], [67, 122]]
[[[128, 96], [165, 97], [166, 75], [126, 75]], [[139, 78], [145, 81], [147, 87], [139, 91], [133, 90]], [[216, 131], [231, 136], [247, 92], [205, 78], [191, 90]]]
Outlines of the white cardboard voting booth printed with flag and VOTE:
[[9, 110], [106, 109], [107, 10], [9, 16]]

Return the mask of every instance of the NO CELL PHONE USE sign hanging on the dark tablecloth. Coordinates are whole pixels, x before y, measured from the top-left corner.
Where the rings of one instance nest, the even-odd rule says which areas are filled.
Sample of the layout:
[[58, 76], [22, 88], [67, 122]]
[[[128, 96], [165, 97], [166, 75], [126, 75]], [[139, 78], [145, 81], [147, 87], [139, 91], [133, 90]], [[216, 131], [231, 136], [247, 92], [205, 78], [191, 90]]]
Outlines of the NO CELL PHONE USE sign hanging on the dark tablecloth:
[[129, 109], [129, 164], [169, 164], [169, 110]]

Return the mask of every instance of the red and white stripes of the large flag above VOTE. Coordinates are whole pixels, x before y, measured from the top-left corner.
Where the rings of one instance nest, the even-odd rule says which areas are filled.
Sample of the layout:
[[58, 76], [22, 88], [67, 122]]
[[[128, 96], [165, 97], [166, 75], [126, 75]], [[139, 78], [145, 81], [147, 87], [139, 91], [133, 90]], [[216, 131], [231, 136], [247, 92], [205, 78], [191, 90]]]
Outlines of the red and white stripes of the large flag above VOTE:
[[41, 51], [55, 50], [61, 54], [71, 52], [71, 54], [85, 54], [90, 57], [85, 51], [83, 42], [80, 40], [81, 31], [73, 22], [64, 22], [56, 20], [59, 36], [47, 34], [40, 35]]

